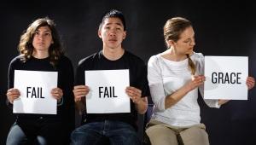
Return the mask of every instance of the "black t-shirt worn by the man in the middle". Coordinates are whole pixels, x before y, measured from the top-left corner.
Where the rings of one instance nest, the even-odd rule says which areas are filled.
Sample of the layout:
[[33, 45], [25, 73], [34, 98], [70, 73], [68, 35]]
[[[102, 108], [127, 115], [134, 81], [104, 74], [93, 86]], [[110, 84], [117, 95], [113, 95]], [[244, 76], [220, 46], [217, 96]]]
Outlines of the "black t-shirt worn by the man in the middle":
[[[82, 61], [79, 62], [79, 67], [77, 68], [75, 77], [75, 85], [84, 84], [84, 81], [86, 79], [86, 77], [84, 78], [84, 71], [119, 69], [129, 69], [130, 86], [142, 90], [143, 97], [149, 96], [147, 67], [142, 59], [140, 59], [136, 55], [132, 55], [126, 50], [125, 54], [116, 61], [109, 61], [102, 54], [102, 51], [84, 58]], [[135, 108], [135, 104], [131, 102], [131, 100], [130, 103], [131, 113], [86, 113], [85, 123], [109, 119], [128, 123], [137, 129], [137, 110]]]

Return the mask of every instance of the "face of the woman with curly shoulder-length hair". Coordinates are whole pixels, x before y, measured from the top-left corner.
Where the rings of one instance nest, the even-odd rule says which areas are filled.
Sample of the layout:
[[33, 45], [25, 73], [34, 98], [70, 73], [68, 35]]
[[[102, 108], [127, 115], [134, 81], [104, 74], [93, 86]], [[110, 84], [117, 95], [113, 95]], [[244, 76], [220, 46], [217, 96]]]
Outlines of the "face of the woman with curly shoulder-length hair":
[[32, 45], [35, 51], [48, 51], [50, 44], [53, 44], [53, 39], [49, 26], [41, 26], [34, 34]]

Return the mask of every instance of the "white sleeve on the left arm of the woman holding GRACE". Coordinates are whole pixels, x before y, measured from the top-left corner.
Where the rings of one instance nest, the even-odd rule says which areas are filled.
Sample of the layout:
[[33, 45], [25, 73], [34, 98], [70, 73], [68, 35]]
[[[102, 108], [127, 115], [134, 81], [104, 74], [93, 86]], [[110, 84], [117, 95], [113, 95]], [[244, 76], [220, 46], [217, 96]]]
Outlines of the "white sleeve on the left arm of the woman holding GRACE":
[[154, 107], [159, 111], [164, 111], [166, 95], [163, 87], [163, 79], [157, 56], [150, 57], [148, 61], [148, 84]]

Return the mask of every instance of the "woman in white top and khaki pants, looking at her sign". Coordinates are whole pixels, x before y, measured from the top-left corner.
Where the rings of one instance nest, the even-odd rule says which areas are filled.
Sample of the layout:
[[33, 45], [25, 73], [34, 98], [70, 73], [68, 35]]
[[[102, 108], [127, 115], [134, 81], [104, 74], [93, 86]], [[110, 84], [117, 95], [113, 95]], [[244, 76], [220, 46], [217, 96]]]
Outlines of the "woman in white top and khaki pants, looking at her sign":
[[[148, 83], [154, 102], [146, 133], [153, 145], [209, 144], [201, 124], [198, 89], [203, 96], [204, 56], [193, 51], [195, 32], [189, 20], [175, 17], [166, 21], [167, 50], [148, 61]], [[247, 78], [248, 89], [254, 78]], [[209, 107], [220, 107], [227, 100], [204, 100]]]

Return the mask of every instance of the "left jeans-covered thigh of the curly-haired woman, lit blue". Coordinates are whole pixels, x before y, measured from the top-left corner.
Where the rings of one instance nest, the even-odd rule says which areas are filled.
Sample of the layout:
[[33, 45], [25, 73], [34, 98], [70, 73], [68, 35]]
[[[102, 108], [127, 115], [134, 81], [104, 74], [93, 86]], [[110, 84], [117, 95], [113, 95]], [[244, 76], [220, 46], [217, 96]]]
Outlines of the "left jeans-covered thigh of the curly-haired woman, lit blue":
[[28, 138], [19, 125], [13, 125], [6, 140], [7, 145], [28, 144]]

